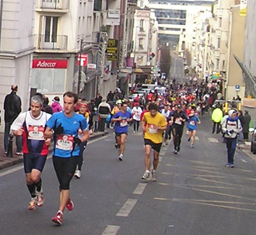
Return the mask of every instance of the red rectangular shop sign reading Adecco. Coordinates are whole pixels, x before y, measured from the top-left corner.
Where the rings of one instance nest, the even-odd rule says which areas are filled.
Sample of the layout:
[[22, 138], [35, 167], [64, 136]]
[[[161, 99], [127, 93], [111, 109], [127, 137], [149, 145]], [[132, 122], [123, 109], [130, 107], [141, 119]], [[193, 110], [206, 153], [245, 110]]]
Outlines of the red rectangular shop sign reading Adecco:
[[67, 68], [67, 59], [33, 59], [32, 68]]

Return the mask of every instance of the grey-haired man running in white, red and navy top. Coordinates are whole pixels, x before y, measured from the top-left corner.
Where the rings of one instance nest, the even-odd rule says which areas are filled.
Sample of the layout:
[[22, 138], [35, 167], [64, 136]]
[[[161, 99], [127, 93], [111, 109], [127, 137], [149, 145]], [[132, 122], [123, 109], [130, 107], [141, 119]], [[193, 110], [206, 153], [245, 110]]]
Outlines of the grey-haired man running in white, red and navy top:
[[11, 129], [16, 136], [22, 135], [23, 164], [26, 174], [26, 184], [31, 195], [29, 209], [44, 205], [41, 174], [44, 169], [51, 138], [44, 138], [45, 123], [51, 117], [42, 111], [44, 100], [33, 96], [30, 100], [30, 110], [19, 114]]

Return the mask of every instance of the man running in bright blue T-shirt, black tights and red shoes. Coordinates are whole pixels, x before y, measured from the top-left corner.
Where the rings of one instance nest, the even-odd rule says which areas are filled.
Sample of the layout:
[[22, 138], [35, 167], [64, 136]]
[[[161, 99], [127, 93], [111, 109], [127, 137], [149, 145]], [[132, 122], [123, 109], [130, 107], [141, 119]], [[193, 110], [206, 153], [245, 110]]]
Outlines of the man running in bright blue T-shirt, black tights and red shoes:
[[[61, 225], [63, 211], [74, 208], [70, 200], [70, 181], [76, 171], [77, 160], [79, 159], [79, 144], [89, 139], [86, 119], [74, 112], [78, 96], [68, 91], [63, 95], [64, 110], [57, 112], [47, 121], [45, 137], [54, 137], [54, 148], [52, 151], [52, 162], [58, 181], [60, 183], [60, 206], [52, 218], [52, 222]], [[77, 136], [79, 128], [83, 132], [81, 139]]]

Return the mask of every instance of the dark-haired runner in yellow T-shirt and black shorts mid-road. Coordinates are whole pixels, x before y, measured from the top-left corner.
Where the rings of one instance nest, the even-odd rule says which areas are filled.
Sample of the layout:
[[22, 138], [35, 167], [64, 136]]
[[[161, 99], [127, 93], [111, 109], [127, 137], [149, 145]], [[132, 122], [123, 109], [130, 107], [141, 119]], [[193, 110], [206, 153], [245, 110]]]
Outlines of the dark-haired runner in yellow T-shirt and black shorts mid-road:
[[148, 179], [150, 176], [150, 153], [154, 149], [153, 169], [151, 171], [152, 181], [156, 181], [156, 170], [159, 163], [159, 152], [163, 142], [163, 131], [166, 130], [165, 117], [157, 112], [156, 103], [148, 105], [149, 112], [146, 112], [142, 119], [142, 128], [145, 142], [145, 173], [142, 179]]

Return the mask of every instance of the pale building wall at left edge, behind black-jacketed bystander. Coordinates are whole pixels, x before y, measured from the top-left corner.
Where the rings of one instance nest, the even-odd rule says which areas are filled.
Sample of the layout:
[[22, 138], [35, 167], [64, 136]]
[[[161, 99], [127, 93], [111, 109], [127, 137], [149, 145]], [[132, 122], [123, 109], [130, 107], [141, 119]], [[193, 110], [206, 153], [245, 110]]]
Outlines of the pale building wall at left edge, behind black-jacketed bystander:
[[[27, 110], [34, 52], [36, 0], [0, 1], [0, 109], [12, 84], [19, 87], [22, 110]], [[4, 125], [0, 126], [3, 131]]]

